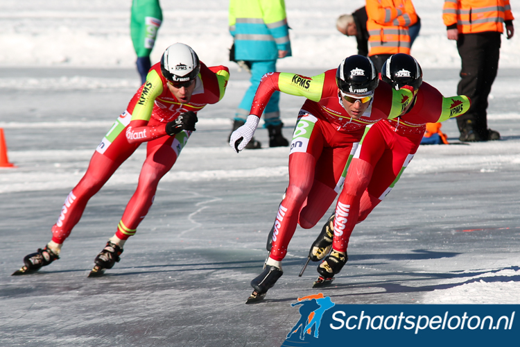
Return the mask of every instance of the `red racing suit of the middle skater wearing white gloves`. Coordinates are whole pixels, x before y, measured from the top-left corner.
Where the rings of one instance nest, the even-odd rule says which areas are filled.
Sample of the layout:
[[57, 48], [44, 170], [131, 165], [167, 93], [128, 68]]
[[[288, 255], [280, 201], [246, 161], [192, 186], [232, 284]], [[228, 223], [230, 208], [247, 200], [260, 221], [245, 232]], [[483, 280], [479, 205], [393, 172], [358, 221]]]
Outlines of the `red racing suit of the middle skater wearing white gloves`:
[[394, 118], [412, 100], [408, 90], [380, 82], [360, 119], [351, 118], [336, 85], [336, 69], [313, 77], [273, 72], [261, 79], [251, 115], [260, 117], [273, 92], [305, 96], [289, 154], [289, 185], [279, 205], [270, 257], [282, 260], [296, 230], [312, 228], [336, 198], [341, 175], [356, 151], [365, 127]]

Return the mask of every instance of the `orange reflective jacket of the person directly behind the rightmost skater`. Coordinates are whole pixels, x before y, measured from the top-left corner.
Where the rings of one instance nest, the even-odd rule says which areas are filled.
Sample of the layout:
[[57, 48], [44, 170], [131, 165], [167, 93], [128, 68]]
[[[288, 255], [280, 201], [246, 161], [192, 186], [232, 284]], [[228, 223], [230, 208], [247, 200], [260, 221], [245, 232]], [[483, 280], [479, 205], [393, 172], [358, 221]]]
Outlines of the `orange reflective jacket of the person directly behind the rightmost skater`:
[[367, 0], [369, 56], [410, 54], [408, 26], [417, 23], [411, 0]]

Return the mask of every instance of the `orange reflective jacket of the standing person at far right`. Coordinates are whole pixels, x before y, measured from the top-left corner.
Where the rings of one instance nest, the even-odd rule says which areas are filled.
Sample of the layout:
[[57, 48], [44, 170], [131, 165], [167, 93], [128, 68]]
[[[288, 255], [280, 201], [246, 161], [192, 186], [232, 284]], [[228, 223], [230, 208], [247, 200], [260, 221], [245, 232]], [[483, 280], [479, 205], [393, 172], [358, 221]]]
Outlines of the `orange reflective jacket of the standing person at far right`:
[[459, 33], [503, 33], [503, 22], [513, 20], [509, 0], [444, 0], [444, 25], [457, 24]]

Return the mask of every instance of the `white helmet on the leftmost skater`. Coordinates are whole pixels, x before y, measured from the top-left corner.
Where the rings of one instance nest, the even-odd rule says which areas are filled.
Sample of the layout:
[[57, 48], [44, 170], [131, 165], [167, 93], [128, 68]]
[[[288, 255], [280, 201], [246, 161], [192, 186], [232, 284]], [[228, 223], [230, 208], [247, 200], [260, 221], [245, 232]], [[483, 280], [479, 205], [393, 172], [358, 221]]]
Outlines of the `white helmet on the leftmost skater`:
[[197, 53], [186, 44], [172, 44], [162, 54], [161, 72], [168, 81], [191, 81], [197, 77], [199, 71]]

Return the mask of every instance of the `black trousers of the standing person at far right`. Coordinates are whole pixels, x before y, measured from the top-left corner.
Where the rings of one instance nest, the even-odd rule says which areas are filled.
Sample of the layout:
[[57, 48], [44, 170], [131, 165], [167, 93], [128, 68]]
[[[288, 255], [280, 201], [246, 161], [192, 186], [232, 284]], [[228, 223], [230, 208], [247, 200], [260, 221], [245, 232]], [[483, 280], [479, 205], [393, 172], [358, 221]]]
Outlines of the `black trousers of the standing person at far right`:
[[474, 131], [487, 138], [487, 96], [499, 69], [501, 33], [460, 34], [457, 49], [462, 60], [457, 94], [471, 99], [471, 108], [457, 117], [459, 130], [471, 121]]

